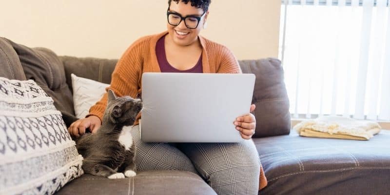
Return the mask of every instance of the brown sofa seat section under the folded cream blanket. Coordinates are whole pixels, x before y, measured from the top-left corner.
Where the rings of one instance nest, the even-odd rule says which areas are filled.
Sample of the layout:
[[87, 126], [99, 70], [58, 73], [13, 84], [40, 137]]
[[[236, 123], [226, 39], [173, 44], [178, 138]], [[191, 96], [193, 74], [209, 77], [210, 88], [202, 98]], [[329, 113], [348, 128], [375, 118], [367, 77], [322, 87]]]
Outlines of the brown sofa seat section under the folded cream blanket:
[[388, 194], [390, 131], [369, 141], [288, 136], [255, 138], [268, 186], [261, 195]]

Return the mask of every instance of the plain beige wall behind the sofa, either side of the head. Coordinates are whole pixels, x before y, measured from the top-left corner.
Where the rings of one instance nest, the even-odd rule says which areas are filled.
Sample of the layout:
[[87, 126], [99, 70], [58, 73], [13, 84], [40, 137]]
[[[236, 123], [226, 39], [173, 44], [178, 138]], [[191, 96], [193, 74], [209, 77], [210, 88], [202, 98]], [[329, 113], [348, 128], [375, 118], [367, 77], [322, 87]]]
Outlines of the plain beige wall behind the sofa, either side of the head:
[[[0, 0], [0, 36], [58, 55], [119, 58], [166, 29], [167, 0]], [[201, 35], [238, 59], [277, 57], [280, 0], [212, 0]]]

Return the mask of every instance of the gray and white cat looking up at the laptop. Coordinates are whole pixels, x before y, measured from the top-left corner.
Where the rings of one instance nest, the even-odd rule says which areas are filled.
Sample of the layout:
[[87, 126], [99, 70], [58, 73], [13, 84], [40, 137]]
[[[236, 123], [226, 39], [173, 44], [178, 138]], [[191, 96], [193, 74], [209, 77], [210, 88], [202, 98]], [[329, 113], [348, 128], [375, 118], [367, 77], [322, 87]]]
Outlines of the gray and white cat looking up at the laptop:
[[85, 173], [110, 179], [136, 176], [135, 145], [130, 130], [142, 107], [140, 99], [117, 98], [113, 91], [108, 91], [98, 132], [76, 140], [78, 153], [84, 158]]

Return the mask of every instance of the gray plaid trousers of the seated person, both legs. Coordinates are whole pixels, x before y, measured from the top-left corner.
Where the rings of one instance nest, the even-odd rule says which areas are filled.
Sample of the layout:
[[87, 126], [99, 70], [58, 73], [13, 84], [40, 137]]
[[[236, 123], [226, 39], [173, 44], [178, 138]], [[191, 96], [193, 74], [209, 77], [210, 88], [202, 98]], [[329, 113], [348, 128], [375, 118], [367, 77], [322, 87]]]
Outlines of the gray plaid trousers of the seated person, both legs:
[[205, 179], [218, 195], [257, 195], [260, 160], [252, 140], [241, 143], [144, 143], [132, 129], [137, 171], [181, 170]]

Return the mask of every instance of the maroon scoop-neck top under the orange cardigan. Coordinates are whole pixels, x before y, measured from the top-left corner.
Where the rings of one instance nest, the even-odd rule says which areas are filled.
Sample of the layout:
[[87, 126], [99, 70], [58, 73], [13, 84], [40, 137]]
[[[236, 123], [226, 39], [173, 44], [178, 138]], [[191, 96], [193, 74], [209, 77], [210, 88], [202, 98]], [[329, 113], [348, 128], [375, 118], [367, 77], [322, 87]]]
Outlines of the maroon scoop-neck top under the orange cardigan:
[[178, 70], [175, 67], [171, 66], [167, 60], [167, 56], [165, 55], [165, 44], [164, 44], [165, 36], [162, 36], [158, 39], [156, 43], [156, 56], [158, 61], [158, 66], [160, 66], [160, 70], [162, 73], [203, 73], [202, 67], [202, 55], [196, 62], [195, 66], [188, 70]]

